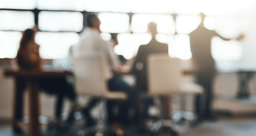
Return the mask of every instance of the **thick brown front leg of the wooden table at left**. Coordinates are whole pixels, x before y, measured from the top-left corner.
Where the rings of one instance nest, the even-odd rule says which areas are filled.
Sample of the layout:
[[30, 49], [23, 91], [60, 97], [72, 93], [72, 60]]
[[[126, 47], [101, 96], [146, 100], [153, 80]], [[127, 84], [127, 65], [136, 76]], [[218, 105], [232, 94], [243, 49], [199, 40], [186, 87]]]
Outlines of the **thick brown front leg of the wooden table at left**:
[[29, 136], [40, 135], [39, 124], [39, 102], [38, 102], [38, 80], [35, 78], [30, 79], [29, 88]]

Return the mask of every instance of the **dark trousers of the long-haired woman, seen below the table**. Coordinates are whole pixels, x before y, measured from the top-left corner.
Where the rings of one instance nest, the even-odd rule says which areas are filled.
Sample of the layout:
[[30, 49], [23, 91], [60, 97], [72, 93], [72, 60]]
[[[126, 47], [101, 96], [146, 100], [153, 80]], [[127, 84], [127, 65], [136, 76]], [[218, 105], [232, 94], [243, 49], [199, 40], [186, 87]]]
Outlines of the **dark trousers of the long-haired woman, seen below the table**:
[[[63, 97], [67, 96], [71, 101], [74, 101], [76, 98], [73, 86], [69, 85], [65, 78], [41, 78], [38, 80], [38, 84], [42, 91], [57, 96], [55, 116], [57, 119], [60, 119]], [[23, 93], [27, 85], [28, 81], [26, 79], [16, 78], [15, 120], [23, 117]]]

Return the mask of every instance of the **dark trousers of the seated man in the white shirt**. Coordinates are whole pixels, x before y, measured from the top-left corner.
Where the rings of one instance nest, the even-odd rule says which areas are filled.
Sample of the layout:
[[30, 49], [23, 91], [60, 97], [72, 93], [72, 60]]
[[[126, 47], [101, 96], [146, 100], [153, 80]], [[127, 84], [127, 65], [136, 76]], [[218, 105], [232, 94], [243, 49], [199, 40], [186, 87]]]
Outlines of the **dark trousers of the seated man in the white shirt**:
[[[126, 122], [129, 119], [128, 110], [131, 107], [135, 108], [135, 103], [138, 97], [137, 91], [132, 88], [129, 84], [127, 84], [122, 77], [115, 76], [108, 81], [108, 86], [110, 91], [123, 91], [128, 94], [127, 100], [121, 102], [119, 105], [119, 117], [118, 120], [122, 122]], [[108, 101], [108, 110], [110, 114], [110, 121], [114, 120], [114, 116], [112, 115], [112, 108], [116, 101]]]

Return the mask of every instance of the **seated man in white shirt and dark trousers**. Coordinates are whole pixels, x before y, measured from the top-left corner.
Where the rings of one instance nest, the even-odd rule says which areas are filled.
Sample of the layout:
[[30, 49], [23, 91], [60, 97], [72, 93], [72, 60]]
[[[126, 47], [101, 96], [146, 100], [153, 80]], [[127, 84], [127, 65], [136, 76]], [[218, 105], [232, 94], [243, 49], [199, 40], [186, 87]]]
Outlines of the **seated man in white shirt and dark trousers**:
[[[117, 60], [117, 55], [114, 54], [113, 44], [109, 45], [100, 37], [100, 20], [95, 14], [87, 17], [87, 24], [89, 29], [84, 32], [83, 39], [73, 48], [74, 58], [90, 55], [95, 52], [100, 52], [105, 58], [105, 78], [108, 81], [108, 88], [110, 91], [124, 91], [129, 98], [119, 107], [120, 120], [122, 122], [128, 121], [128, 109], [135, 104], [136, 91], [128, 83], [126, 83], [119, 75], [127, 73], [129, 69], [122, 67]], [[113, 102], [108, 101], [108, 112], [110, 114], [110, 121], [112, 119], [111, 108]], [[88, 115], [90, 116], [90, 115]]]

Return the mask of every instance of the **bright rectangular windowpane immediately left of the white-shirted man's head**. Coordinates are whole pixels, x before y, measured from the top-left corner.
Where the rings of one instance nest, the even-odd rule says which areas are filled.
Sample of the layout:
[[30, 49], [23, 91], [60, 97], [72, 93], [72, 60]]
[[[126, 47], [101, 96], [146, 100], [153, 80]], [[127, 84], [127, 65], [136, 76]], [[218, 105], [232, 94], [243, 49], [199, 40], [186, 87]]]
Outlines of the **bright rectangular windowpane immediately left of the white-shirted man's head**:
[[42, 31], [76, 31], [83, 29], [83, 14], [80, 12], [41, 11], [38, 27]]

